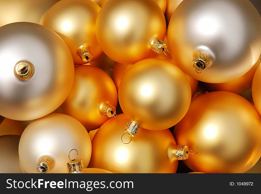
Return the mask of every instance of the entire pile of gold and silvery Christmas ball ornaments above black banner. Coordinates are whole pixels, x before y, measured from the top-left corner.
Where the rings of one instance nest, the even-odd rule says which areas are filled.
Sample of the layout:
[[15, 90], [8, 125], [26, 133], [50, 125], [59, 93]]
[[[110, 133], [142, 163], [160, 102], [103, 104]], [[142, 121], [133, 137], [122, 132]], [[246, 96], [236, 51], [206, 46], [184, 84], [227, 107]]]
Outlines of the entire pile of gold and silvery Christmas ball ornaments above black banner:
[[[258, 162], [261, 17], [249, 0], [0, 10], [0, 153], [12, 153], [0, 172], [176, 173], [184, 160], [244, 173]], [[252, 103], [239, 95], [251, 88]]]

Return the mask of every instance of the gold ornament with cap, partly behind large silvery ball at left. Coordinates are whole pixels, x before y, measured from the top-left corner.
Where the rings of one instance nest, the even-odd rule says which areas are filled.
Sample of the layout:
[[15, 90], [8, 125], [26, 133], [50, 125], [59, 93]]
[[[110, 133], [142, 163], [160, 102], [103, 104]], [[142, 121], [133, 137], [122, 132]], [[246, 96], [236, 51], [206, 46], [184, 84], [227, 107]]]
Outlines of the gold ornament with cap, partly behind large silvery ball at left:
[[43, 25], [66, 42], [75, 65], [93, 61], [102, 53], [95, 34], [100, 9], [91, 0], [61, 0], [44, 17]]

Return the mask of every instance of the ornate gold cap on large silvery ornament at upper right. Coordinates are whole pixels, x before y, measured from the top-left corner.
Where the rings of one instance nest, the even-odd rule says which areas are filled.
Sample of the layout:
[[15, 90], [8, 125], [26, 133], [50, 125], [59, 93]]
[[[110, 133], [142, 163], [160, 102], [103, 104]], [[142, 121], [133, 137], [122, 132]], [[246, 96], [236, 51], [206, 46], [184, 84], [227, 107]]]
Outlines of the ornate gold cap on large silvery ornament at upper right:
[[192, 66], [197, 73], [201, 73], [209, 65], [210, 58], [206, 53], [199, 52], [192, 60]]

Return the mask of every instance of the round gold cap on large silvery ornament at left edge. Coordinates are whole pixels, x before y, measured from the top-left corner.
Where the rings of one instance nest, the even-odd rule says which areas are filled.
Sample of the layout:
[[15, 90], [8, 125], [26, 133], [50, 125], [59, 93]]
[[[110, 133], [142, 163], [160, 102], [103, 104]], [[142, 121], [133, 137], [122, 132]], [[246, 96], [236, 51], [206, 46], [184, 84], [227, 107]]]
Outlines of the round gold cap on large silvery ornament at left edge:
[[34, 66], [27, 61], [17, 62], [15, 65], [15, 76], [20, 80], [28, 80], [34, 74]]

